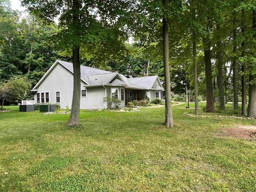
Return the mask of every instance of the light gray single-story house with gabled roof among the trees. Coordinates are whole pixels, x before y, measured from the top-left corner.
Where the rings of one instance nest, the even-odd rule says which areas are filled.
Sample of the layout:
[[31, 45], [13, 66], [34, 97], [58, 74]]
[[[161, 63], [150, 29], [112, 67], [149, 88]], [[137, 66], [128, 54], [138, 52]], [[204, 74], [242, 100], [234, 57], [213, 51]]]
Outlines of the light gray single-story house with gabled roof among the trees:
[[[31, 90], [35, 103], [59, 103], [71, 108], [73, 97], [73, 64], [57, 60]], [[107, 108], [103, 98], [121, 100], [121, 107], [132, 100], [163, 98], [158, 76], [126, 78], [117, 72], [81, 66], [81, 109]]]

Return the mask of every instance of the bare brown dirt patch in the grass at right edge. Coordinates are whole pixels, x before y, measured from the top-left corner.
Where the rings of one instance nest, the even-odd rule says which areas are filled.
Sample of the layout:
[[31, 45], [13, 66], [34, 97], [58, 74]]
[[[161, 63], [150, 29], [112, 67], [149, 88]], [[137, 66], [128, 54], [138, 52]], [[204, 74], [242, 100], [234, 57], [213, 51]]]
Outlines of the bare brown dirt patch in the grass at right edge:
[[223, 128], [220, 137], [236, 137], [241, 139], [256, 140], [256, 126], [240, 125], [233, 128]]

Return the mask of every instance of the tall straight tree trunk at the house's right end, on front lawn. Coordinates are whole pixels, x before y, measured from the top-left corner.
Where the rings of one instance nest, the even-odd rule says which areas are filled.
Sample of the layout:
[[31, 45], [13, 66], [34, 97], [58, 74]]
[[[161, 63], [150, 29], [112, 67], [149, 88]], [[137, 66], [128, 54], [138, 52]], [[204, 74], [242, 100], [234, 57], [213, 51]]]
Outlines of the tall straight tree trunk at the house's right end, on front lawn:
[[[166, 1], [163, 0], [165, 7]], [[164, 59], [164, 82], [165, 82], [165, 126], [173, 127], [172, 101], [171, 101], [171, 78], [169, 66], [169, 35], [166, 18], [163, 15], [163, 59]]]

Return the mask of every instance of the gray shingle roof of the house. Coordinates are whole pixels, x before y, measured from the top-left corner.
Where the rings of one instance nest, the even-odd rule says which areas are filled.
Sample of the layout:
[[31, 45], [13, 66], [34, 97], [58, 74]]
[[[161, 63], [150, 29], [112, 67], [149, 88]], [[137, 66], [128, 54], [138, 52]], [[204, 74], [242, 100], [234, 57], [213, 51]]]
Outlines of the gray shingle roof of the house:
[[[58, 61], [73, 72], [73, 63], [62, 60]], [[118, 75], [120, 75], [123, 81], [118, 78], [114, 79], [114, 77]], [[89, 85], [106, 85], [109, 84], [112, 79], [114, 79], [111, 84], [124, 84], [131, 89], [162, 89], [162, 87], [159, 86], [153, 87], [157, 80], [157, 76], [127, 78], [122, 74], [118, 74], [117, 72], [87, 66], [81, 66], [81, 78], [84, 79], [84, 81], [86, 81]]]

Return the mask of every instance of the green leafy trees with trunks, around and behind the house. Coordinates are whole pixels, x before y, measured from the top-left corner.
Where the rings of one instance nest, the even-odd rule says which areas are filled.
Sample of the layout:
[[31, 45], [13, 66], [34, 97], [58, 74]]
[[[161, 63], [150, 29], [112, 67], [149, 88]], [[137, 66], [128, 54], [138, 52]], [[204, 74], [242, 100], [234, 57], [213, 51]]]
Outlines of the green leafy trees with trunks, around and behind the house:
[[79, 123], [81, 64], [126, 76], [158, 75], [166, 126], [174, 124], [171, 90], [185, 92], [185, 85], [195, 114], [203, 95], [206, 112], [214, 113], [216, 103], [225, 110], [227, 101], [238, 110], [242, 101], [241, 114], [256, 117], [255, 1], [23, 0], [30, 13], [24, 19], [9, 1], [0, 2], [1, 80], [27, 75], [36, 82], [55, 59], [72, 61], [68, 125]]

